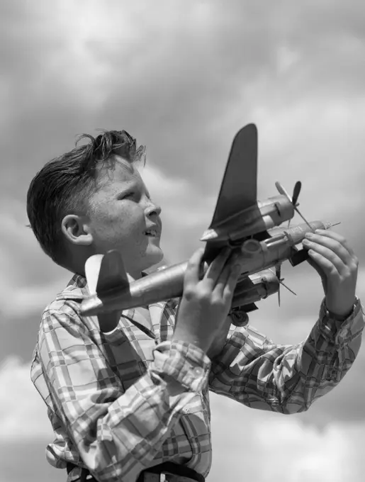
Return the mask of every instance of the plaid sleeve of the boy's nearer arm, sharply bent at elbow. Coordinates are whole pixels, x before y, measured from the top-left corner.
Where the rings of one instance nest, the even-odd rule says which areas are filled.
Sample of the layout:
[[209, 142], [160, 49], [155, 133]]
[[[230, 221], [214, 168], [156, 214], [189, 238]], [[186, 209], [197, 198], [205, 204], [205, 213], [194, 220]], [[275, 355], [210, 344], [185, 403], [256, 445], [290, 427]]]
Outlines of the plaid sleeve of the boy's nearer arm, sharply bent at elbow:
[[132, 482], [152, 461], [182, 408], [206, 386], [210, 360], [192, 344], [163, 342], [146, 373], [123, 391], [94, 336], [75, 315], [43, 314], [40, 363], [58, 415], [100, 482]]

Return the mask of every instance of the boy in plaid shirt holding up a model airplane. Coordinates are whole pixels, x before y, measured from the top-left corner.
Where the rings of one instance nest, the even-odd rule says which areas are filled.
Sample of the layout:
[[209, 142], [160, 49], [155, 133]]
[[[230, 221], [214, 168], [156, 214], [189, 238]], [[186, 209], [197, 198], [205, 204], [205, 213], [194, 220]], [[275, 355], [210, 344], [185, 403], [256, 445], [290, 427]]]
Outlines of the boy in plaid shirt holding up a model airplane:
[[[125, 310], [115, 330], [100, 332], [96, 317], [79, 314], [89, 295], [86, 259], [118, 250], [130, 278], [140, 278], [162, 259], [161, 209], [135, 167], [144, 150], [128, 133], [86, 137], [89, 144], [47, 163], [28, 190], [41, 247], [74, 273], [45, 308], [31, 369], [55, 432], [47, 460], [67, 468], [69, 482], [86, 474], [99, 482], [152, 481], [166, 472], [175, 474], [170, 481], [203, 481], [211, 462], [208, 388], [291, 414], [347, 373], [364, 328], [356, 257], [334, 232], [308, 240], [325, 300], [308, 339], [293, 347], [230, 325], [240, 265], [228, 250], [202, 279], [202, 250], [193, 254], [177, 315], [170, 300]], [[141, 318], [155, 339], [130, 322]]]

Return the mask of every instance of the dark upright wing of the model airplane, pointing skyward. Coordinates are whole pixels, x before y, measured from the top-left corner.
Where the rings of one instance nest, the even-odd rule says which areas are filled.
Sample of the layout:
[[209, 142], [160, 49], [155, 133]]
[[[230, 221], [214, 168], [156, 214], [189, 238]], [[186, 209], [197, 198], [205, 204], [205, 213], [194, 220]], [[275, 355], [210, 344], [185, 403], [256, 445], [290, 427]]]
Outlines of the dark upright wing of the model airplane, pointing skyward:
[[245, 125], [232, 142], [209, 228], [257, 203], [257, 128]]

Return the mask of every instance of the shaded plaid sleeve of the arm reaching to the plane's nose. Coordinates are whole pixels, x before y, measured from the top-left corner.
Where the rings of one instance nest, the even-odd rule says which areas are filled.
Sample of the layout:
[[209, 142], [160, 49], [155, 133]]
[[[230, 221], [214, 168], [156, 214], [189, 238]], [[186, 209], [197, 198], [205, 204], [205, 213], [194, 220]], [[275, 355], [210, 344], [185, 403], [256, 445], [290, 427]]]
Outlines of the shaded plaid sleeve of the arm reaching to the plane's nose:
[[212, 360], [209, 388], [251, 408], [284, 414], [307, 410], [337, 386], [361, 345], [364, 308], [356, 299], [347, 320], [320, 316], [304, 342], [274, 344], [254, 328], [231, 326], [222, 352]]

